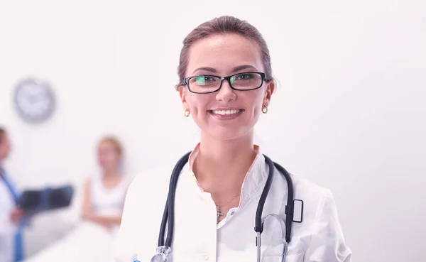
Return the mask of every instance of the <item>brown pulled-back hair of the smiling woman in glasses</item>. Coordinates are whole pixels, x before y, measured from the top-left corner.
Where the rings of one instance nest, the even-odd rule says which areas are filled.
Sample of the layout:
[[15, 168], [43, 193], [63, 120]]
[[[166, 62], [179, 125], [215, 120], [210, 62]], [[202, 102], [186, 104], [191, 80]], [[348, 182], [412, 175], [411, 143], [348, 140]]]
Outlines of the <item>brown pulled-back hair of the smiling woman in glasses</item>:
[[187, 35], [183, 40], [183, 47], [180, 51], [180, 60], [178, 67], [179, 83], [175, 86], [176, 89], [180, 87], [185, 78], [185, 72], [187, 70], [189, 62], [189, 51], [193, 43], [202, 38], [207, 38], [214, 34], [226, 34], [226, 33], [236, 33], [239, 36], [244, 36], [253, 40], [259, 45], [261, 49], [261, 58], [263, 60], [263, 67], [265, 69], [266, 80], [273, 80], [272, 77], [272, 68], [271, 68], [271, 56], [269, 55], [268, 45], [266, 45], [265, 39], [261, 33], [251, 26], [250, 23], [235, 18], [234, 16], [220, 16], [219, 18], [214, 18], [210, 21], [202, 23], [200, 26], [197, 26], [194, 30]]

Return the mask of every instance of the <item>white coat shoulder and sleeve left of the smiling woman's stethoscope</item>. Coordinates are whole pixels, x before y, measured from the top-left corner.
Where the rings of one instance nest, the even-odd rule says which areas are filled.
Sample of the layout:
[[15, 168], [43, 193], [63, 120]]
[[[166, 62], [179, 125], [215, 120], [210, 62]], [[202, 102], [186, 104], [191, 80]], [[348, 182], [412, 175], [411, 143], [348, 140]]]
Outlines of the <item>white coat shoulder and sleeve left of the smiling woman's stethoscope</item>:
[[114, 241], [116, 261], [131, 261], [140, 245], [155, 250], [156, 246], [151, 245], [158, 237], [172, 170], [173, 166], [163, 165], [143, 170], [133, 177], [126, 192], [119, 233]]

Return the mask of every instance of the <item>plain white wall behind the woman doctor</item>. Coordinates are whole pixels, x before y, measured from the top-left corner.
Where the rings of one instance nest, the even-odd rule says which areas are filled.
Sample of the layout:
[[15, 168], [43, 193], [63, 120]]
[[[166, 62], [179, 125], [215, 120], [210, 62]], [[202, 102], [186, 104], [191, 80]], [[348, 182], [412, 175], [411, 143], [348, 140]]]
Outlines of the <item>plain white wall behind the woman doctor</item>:
[[[0, 124], [21, 187], [97, 173], [94, 145], [115, 133], [126, 170], [192, 149], [173, 85], [181, 41], [214, 16], [253, 23], [280, 82], [257, 141], [263, 152], [329, 187], [354, 261], [419, 261], [425, 225], [424, 1], [0, 1]], [[206, 6], [203, 6], [203, 5]], [[13, 84], [50, 80], [58, 111], [31, 126]]]

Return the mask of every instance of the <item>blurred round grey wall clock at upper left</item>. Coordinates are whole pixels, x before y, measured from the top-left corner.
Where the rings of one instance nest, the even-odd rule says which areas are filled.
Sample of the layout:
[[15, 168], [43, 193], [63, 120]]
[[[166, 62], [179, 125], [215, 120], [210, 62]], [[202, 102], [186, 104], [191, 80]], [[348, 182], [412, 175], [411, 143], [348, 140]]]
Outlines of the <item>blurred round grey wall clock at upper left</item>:
[[55, 95], [50, 85], [35, 78], [19, 82], [13, 98], [16, 111], [24, 121], [40, 123], [55, 111]]

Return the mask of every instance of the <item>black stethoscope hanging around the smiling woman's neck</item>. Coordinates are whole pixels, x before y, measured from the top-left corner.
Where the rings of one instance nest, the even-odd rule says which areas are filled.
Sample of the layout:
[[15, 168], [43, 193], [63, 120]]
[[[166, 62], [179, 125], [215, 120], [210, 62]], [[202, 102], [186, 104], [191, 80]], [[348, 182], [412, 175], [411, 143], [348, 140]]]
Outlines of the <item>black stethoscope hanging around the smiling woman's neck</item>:
[[[188, 161], [188, 158], [190, 156], [191, 152], [186, 153], [185, 155], [180, 158], [178, 163], [176, 163], [175, 168], [173, 168], [172, 176], [170, 178], [170, 184], [169, 184], [169, 192], [167, 201], [165, 203], [165, 209], [163, 212], [163, 220], [161, 221], [160, 226], [160, 234], [158, 236], [158, 247], [157, 247], [157, 254], [151, 258], [151, 262], [168, 262], [169, 255], [172, 251], [172, 241], [173, 241], [173, 226], [175, 225], [175, 192], [176, 192], [176, 185], [178, 182], [178, 178], [180, 175], [180, 172], [182, 171], [183, 167]], [[261, 261], [261, 233], [263, 231], [263, 223], [265, 222], [266, 218], [268, 217], [274, 217], [278, 220], [280, 223], [281, 229], [283, 229], [283, 258], [282, 261], [285, 261], [285, 256], [288, 252], [288, 244], [290, 244], [290, 236], [291, 236], [291, 229], [292, 229], [292, 222], [302, 222], [300, 221], [294, 221], [294, 202], [302, 200], [293, 200], [293, 180], [290, 177], [290, 174], [285, 170], [281, 165], [278, 165], [277, 163], [274, 163], [268, 156], [263, 155], [265, 157], [265, 161], [269, 166], [269, 173], [268, 173], [268, 179], [266, 180], [266, 185], [263, 188], [263, 192], [261, 194], [261, 198], [258, 202], [258, 207], [256, 210], [256, 217], [254, 219], [254, 231], [256, 231], [256, 247], [257, 247], [257, 261]], [[263, 206], [266, 202], [266, 197], [268, 196], [268, 192], [271, 189], [273, 176], [274, 176], [274, 170], [275, 168], [280, 171], [285, 177], [285, 180], [287, 180], [287, 187], [288, 187], [288, 198], [287, 198], [287, 205], [285, 206], [285, 214], [287, 216], [287, 219], [284, 219], [278, 214], [268, 214], [266, 217], [262, 217], [262, 211]], [[300, 210], [302, 212], [302, 210]], [[167, 226], [167, 238], [164, 241], [164, 235], [165, 235], [165, 229]], [[137, 260], [134, 260], [137, 261]]]

